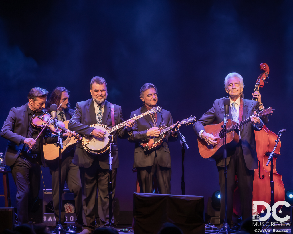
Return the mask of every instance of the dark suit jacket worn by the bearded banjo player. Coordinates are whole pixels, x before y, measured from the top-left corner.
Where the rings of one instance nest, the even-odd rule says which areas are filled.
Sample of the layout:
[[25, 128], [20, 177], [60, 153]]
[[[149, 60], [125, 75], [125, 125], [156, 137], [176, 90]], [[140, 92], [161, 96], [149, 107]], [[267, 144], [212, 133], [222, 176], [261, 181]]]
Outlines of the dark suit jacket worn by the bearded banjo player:
[[[81, 101], [76, 103], [75, 113], [72, 116], [68, 128], [71, 131], [76, 131], [80, 135], [84, 135], [86, 137], [91, 136], [91, 132], [94, 130], [93, 127], [90, 127], [92, 124], [97, 123], [95, 106], [93, 103], [93, 99], [88, 99], [86, 101]], [[102, 124], [107, 125], [109, 128], [112, 128], [111, 122], [111, 107], [110, 102], [105, 102], [105, 108], [103, 112]], [[114, 115], [115, 115], [115, 125], [124, 122], [121, 106], [117, 106], [114, 104]], [[127, 138], [129, 134], [127, 133], [126, 127], [120, 128], [113, 133], [113, 145], [112, 145], [112, 168], [118, 168], [119, 159], [118, 159], [118, 146], [117, 146], [117, 135], [119, 138]], [[73, 163], [77, 166], [88, 168], [93, 164], [94, 160], [98, 160], [101, 168], [108, 169], [109, 165], [109, 151], [93, 155], [88, 153], [81, 143], [77, 143]]]

